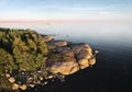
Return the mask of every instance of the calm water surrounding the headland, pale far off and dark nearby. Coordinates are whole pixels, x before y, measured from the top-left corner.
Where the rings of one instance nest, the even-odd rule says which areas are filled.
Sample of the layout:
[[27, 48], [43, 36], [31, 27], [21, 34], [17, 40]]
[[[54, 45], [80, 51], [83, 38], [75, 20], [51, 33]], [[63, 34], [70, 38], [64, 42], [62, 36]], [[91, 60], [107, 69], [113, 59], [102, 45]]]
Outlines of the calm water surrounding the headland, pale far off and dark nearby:
[[2, 27], [33, 28], [56, 39], [88, 43], [98, 49], [94, 67], [29, 92], [132, 92], [132, 22], [0, 23]]

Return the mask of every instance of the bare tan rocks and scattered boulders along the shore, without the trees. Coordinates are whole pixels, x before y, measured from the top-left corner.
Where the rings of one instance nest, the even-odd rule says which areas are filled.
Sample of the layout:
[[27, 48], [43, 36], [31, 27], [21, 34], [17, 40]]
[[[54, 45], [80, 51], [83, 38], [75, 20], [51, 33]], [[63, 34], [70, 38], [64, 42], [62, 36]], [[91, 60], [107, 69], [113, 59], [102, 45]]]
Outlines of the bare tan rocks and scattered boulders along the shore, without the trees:
[[43, 38], [51, 50], [46, 58], [46, 66], [35, 71], [18, 71], [15, 74], [19, 77], [6, 73], [6, 78], [12, 84], [12, 90], [24, 91], [35, 85], [45, 85], [48, 80], [54, 81], [56, 78], [64, 80], [65, 76], [96, 64], [95, 56], [98, 50], [94, 51], [86, 43], [73, 44], [66, 41], [55, 41], [47, 35]]

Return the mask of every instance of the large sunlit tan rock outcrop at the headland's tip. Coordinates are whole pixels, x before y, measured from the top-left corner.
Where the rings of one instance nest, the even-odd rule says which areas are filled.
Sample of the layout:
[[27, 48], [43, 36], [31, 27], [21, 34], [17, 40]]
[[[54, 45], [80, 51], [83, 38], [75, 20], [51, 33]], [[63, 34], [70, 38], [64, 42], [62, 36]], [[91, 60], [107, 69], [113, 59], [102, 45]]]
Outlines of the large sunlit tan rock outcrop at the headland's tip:
[[96, 53], [86, 44], [73, 44], [66, 41], [47, 42], [51, 50], [46, 69], [52, 73], [73, 74], [96, 64]]

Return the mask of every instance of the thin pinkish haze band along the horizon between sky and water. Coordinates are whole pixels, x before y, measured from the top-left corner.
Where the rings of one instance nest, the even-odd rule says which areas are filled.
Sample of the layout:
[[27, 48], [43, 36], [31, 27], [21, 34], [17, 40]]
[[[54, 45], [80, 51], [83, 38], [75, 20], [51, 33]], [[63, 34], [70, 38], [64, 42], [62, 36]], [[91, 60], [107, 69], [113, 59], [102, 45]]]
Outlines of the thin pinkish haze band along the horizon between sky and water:
[[106, 22], [106, 21], [132, 21], [130, 19], [59, 19], [59, 20], [0, 20], [0, 23], [76, 23], [76, 22]]

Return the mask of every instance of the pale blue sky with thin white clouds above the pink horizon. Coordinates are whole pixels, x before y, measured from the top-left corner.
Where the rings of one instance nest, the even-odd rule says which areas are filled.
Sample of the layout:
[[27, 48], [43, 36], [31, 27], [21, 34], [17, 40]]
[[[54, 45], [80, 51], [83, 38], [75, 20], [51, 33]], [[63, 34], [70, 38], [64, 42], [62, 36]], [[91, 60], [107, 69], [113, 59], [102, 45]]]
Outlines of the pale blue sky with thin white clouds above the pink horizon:
[[4, 20], [132, 19], [132, 0], [0, 0]]

